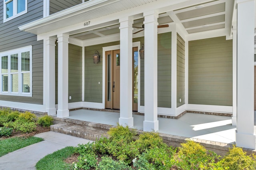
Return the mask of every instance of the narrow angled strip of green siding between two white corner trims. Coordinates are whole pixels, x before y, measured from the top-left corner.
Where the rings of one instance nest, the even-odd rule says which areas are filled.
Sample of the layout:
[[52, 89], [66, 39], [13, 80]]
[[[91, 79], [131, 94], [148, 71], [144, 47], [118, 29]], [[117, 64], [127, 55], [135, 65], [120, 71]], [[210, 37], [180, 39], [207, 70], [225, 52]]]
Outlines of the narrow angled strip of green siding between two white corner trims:
[[185, 104], [185, 41], [177, 34], [177, 107], [183, 104]]

